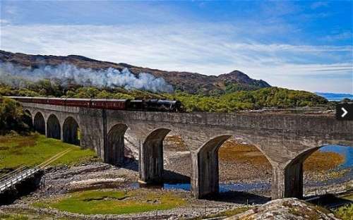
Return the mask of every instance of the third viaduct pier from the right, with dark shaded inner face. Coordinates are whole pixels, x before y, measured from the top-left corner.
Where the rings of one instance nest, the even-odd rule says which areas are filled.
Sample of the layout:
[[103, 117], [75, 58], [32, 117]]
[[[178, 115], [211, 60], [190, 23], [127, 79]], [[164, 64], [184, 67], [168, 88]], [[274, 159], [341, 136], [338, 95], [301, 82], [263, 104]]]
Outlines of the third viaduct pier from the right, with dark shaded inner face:
[[140, 180], [145, 183], [159, 183], [163, 175], [163, 140], [171, 130], [157, 128], [145, 138], [140, 146]]

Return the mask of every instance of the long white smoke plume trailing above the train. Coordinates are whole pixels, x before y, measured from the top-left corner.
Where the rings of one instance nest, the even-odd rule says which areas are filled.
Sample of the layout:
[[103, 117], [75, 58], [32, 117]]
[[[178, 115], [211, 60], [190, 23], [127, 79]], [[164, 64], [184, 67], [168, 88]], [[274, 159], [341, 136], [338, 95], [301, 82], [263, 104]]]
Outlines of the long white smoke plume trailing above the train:
[[38, 80], [60, 80], [63, 85], [66, 82], [75, 82], [78, 85], [92, 85], [96, 87], [124, 87], [127, 90], [149, 90], [152, 92], [173, 92], [163, 78], [155, 78], [150, 73], [133, 75], [128, 68], [122, 71], [116, 68], [94, 70], [92, 68], [78, 68], [69, 63], [61, 63], [58, 66], [40, 66], [27, 68], [13, 63], [0, 63], [0, 82], [21, 87], [21, 80], [37, 82]]

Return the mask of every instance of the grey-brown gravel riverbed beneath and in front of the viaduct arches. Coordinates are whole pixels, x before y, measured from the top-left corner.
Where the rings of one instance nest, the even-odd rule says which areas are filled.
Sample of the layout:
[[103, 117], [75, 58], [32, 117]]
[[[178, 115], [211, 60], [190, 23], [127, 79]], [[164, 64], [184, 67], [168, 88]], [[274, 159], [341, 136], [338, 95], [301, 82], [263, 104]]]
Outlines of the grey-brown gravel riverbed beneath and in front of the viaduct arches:
[[[190, 152], [182, 147], [175, 147], [173, 144], [164, 146], [164, 182], [165, 183], [190, 183], [191, 156]], [[330, 173], [331, 171], [328, 171]], [[345, 172], [345, 171], [333, 171]], [[347, 171], [352, 173], [352, 171]], [[308, 185], [306, 195], [315, 195], [318, 187], [313, 181], [327, 181], [328, 175], [318, 175], [315, 172], [304, 173], [304, 184]], [[244, 161], [220, 160], [220, 183], [249, 184], [256, 183], [265, 187], [252, 188], [244, 192], [222, 192], [213, 200], [196, 200], [186, 190], [143, 188], [143, 190], [169, 190], [177, 193], [187, 200], [187, 204], [174, 209], [141, 212], [137, 214], [107, 214], [107, 215], [83, 215], [69, 212], [59, 212], [56, 209], [36, 208], [33, 202], [47, 198], [60, 198], [66, 193], [90, 190], [113, 188], [116, 190], [133, 190], [140, 188], [138, 181], [138, 163], [129, 159], [123, 167], [112, 166], [102, 162], [91, 162], [79, 166], [56, 166], [44, 171], [40, 181], [40, 187], [28, 196], [16, 200], [13, 204], [1, 206], [1, 212], [14, 210], [30, 210], [39, 214], [61, 216], [69, 219], [190, 219], [197, 216], [217, 214], [228, 209], [244, 207], [246, 204], [258, 205], [270, 200], [270, 181], [272, 171], [270, 166], [253, 164]], [[345, 190], [347, 183], [353, 186], [350, 179], [345, 183], [335, 181], [321, 185], [321, 192], [336, 189]], [[320, 183], [321, 183], [320, 182]], [[319, 185], [319, 184], [318, 184]], [[157, 217], [156, 217], [157, 216]]]

